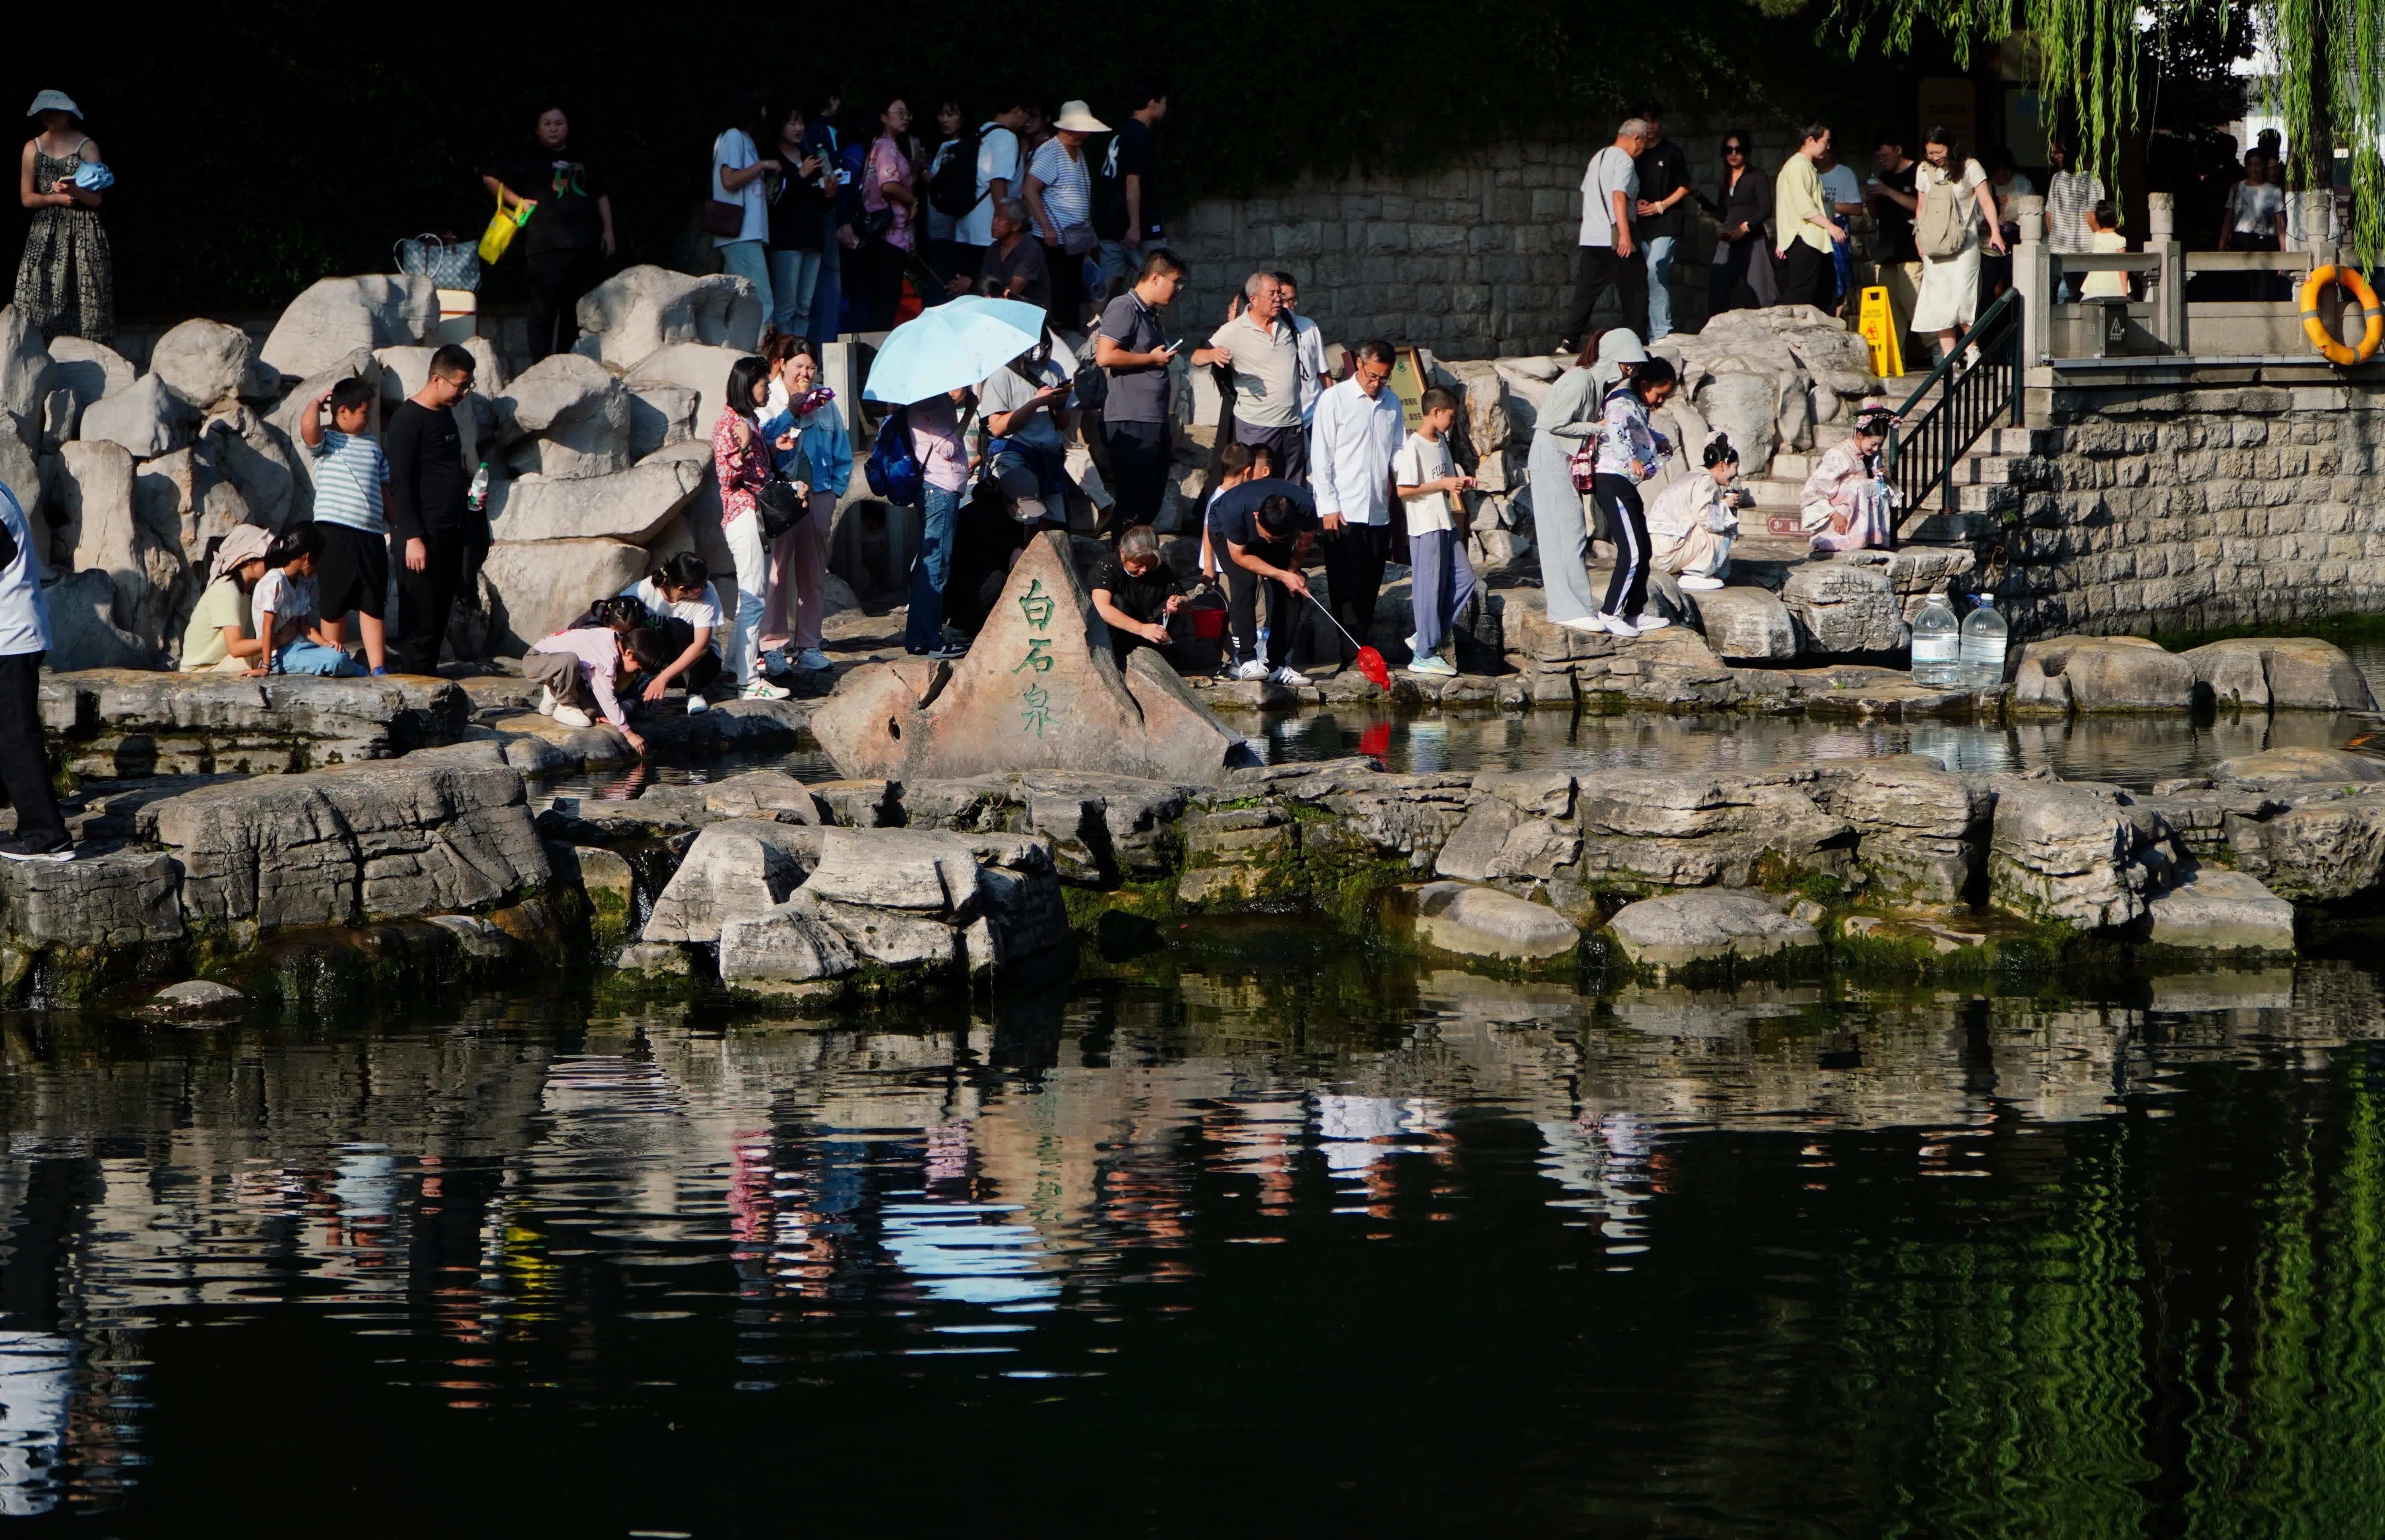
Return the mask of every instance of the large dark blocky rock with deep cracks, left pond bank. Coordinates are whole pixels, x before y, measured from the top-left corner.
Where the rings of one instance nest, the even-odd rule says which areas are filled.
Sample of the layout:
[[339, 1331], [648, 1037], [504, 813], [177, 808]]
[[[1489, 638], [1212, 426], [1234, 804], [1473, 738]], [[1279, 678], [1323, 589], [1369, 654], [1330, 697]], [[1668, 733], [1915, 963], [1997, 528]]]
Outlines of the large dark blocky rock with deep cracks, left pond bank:
[[184, 911], [346, 925], [501, 903], [551, 877], [513, 770], [377, 763], [234, 780], [141, 811], [181, 863]]

